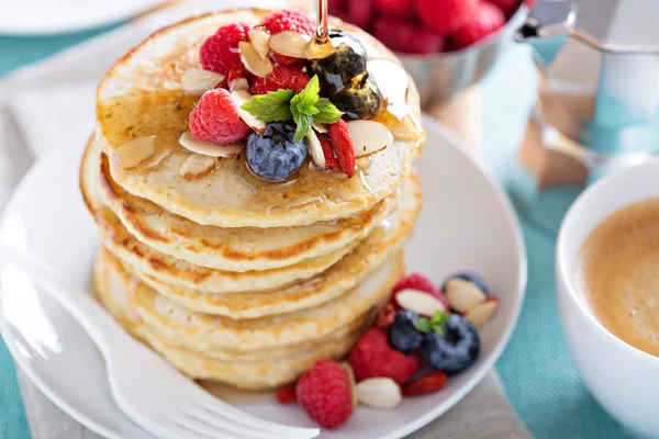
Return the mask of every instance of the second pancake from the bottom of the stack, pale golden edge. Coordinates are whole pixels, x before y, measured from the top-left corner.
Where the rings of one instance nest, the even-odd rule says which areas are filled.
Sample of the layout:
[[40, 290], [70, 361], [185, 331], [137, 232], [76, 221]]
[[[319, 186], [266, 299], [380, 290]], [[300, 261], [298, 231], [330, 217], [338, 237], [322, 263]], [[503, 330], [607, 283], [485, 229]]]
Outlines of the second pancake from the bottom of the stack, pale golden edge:
[[[342, 338], [372, 320], [403, 274], [402, 254], [368, 275], [347, 294], [322, 306], [249, 320], [232, 320], [189, 311], [138, 282], [107, 250], [94, 264], [96, 289], [132, 312], [161, 340], [223, 360], [247, 361], [260, 354], [282, 357]], [[135, 314], [136, 312], [136, 314]], [[129, 314], [125, 311], [122, 314]]]

